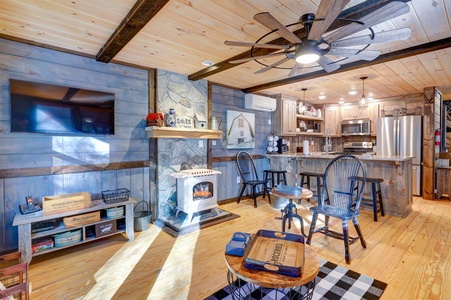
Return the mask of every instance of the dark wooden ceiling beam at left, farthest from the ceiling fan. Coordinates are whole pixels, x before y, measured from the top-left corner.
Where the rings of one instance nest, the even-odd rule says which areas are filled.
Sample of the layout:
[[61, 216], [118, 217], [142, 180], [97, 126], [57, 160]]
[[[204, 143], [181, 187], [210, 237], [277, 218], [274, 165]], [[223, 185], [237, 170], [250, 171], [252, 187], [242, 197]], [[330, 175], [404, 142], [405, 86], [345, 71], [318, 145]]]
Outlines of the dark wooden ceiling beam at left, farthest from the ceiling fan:
[[169, 0], [138, 0], [97, 53], [96, 60], [110, 62], [168, 2]]

